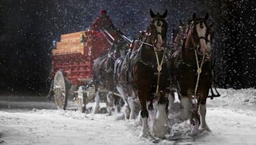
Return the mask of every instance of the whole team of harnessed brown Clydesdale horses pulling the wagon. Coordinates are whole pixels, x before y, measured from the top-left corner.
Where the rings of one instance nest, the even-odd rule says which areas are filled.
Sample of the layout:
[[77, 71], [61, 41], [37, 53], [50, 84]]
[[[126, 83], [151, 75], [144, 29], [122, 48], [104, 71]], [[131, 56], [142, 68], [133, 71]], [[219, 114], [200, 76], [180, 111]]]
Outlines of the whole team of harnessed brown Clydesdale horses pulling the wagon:
[[[100, 89], [106, 88], [109, 112], [111, 107], [122, 105], [125, 119], [135, 119], [135, 110], [140, 107], [142, 137], [164, 138], [168, 96], [174, 97], [173, 88], [179, 94], [182, 118], [198, 125], [198, 130], [210, 131], [205, 121], [213, 59], [209, 53], [213, 38], [211, 25], [207, 24], [209, 15], [206, 13], [204, 18], [198, 18], [194, 13], [192, 20], [179, 25], [173, 37], [174, 53], [166, 43], [166, 15], [167, 10], [163, 15], [150, 10], [151, 22], [147, 31], [138, 33], [129, 50], [125, 44], [114, 45], [108, 55], [93, 64], [96, 88], [93, 113], [99, 112]], [[152, 134], [148, 117], [153, 122]]]

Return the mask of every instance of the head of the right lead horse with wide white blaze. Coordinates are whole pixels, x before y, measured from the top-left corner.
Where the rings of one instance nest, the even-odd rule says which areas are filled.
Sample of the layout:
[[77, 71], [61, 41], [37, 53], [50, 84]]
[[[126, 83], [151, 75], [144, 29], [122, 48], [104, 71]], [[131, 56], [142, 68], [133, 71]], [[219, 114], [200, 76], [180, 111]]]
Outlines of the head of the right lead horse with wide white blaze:
[[210, 52], [213, 32], [212, 25], [207, 24], [209, 15], [205, 14], [204, 18], [197, 18], [196, 13], [193, 14], [193, 21], [191, 22], [191, 38], [193, 45], [197, 48], [199, 46], [202, 53]]

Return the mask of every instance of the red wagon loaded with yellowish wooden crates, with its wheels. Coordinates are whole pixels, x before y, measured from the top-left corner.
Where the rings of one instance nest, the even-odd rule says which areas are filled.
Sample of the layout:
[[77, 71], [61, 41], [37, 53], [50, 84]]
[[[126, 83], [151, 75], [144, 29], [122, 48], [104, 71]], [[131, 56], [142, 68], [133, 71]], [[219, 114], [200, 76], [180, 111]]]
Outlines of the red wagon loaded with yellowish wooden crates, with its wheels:
[[86, 102], [94, 99], [93, 88], [86, 92], [82, 88], [91, 80], [93, 60], [111, 48], [108, 37], [120, 37], [106, 33], [88, 30], [63, 34], [56, 43], [52, 50], [50, 92], [59, 109], [66, 109], [68, 102], [76, 100], [79, 111], [84, 112]]

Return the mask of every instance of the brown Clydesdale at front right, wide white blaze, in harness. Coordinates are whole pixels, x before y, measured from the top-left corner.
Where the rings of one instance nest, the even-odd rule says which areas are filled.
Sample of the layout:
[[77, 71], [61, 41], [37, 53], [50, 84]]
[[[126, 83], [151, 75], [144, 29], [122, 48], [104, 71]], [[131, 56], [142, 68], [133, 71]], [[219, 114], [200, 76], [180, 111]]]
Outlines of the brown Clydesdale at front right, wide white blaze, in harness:
[[[182, 104], [182, 117], [193, 124], [200, 122], [200, 130], [210, 131], [205, 121], [205, 103], [212, 85], [212, 55], [209, 52], [213, 32], [206, 23], [208, 17], [207, 13], [204, 18], [196, 18], [193, 14], [189, 29], [182, 34], [185, 36], [182, 47], [172, 55], [171, 66]], [[182, 27], [186, 29], [188, 24]]]

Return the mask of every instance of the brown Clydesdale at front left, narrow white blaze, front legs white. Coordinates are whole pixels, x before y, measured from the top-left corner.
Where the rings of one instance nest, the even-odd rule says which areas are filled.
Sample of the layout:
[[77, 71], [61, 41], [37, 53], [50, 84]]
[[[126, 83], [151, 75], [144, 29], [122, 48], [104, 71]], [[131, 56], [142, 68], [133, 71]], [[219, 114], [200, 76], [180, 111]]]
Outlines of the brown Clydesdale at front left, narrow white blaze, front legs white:
[[[131, 55], [132, 85], [138, 90], [141, 104], [141, 119], [143, 129], [140, 136], [148, 137], [148, 114], [153, 118], [154, 137], [164, 138], [168, 121], [168, 97], [166, 88], [170, 86], [168, 71], [170, 69], [166, 59], [166, 32], [168, 24], [164, 20], [167, 10], [155, 15], [150, 10], [151, 22], [147, 32], [150, 34], [140, 48]], [[157, 102], [157, 113], [154, 114], [153, 102]], [[149, 113], [148, 113], [149, 112]], [[155, 119], [154, 119], [155, 118]]]

